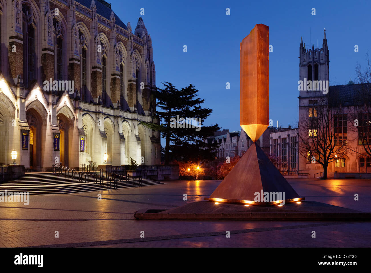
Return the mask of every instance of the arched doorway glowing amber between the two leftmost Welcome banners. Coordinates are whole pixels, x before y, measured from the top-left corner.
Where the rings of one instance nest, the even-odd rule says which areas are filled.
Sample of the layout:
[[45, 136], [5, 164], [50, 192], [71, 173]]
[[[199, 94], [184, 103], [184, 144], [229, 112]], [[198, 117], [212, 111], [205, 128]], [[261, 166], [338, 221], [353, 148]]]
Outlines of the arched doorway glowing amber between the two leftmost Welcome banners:
[[30, 128], [30, 169], [41, 170], [42, 163], [42, 141], [41, 141], [41, 127], [42, 118], [33, 109], [26, 112], [27, 123]]

